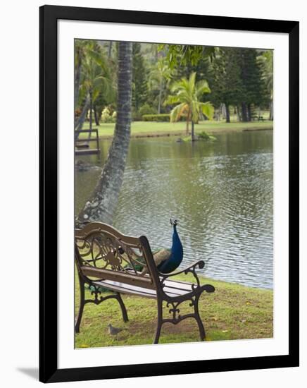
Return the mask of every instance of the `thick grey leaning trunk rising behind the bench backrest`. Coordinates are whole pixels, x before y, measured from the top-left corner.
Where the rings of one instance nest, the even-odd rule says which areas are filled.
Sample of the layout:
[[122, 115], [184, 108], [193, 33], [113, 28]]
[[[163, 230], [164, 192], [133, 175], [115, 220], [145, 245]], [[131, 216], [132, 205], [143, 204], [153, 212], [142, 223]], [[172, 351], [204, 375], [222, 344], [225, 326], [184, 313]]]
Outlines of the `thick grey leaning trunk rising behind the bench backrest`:
[[92, 197], [80, 212], [77, 223], [99, 221], [112, 224], [130, 143], [132, 99], [132, 43], [119, 42], [118, 111], [113, 141]]

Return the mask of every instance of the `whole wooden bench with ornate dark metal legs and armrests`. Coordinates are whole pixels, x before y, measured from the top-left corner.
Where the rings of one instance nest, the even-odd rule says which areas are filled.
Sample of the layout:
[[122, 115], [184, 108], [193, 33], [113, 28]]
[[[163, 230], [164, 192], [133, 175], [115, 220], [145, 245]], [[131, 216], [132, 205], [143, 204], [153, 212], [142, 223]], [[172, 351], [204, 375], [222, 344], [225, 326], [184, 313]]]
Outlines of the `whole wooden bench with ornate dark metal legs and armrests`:
[[[203, 291], [214, 292], [210, 284], [201, 286], [196, 268], [203, 268], [202, 260], [179, 272], [162, 274], [153, 260], [149, 242], [145, 236], [124, 236], [107, 224], [92, 222], [83, 229], [75, 230], [75, 262], [80, 281], [80, 308], [75, 322], [75, 332], [80, 332], [80, 322], [84, 305], [99, 303], [114, 298], [118, 301], [127, 322], [127, 310], [121, 298], [122, 293], [157, 301], [157, 325], [153, 344], [158, 344], [161, 327], [165, 322], [177, 324], [192, 317], [199, 326], [201, 341], [206, 337], [203, 322], [199, 316], [199, 298]], [[147, 266], [148, 273], [140, 268]], [[194, 275], [195, 283], [171, 279], [177, 274]], [[92, 290], [94, 299], [84, 298], [84, 286]], [[101, 288], [113, 291], [101, 296]], [[192, 312], [180, 315], [180, 304], [189, 302]], [[170, 316], [163, 317], [163, 303]], [[165, 311], [165, 310], [164, 310]]]

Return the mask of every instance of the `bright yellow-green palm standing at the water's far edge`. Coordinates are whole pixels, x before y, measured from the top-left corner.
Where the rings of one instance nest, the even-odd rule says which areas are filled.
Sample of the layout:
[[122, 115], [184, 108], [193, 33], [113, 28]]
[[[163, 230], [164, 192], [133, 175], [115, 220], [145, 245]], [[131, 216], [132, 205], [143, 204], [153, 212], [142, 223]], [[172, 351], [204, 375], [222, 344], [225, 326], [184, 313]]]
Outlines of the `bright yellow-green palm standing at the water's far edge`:
[[194, 136], [194, 123], [199, 121], [199, 116], [203, 114], [208, 119], [213, 118], [214, 108], [211, 102], [201, 102], [199, 99], [211, 90], [206, 80], [195, 82], [196, 73], [191, 73], [189, 79], [182, 78], [171, 87], [175, 95], [170, 95], [165, 101], [165, 105], [177, 104], [170, 112], [170, 121], [175, 122], [182, 116], [187, 117], [187, 134], [189, 133], [189, 121], [192, 123], [192, 141]]

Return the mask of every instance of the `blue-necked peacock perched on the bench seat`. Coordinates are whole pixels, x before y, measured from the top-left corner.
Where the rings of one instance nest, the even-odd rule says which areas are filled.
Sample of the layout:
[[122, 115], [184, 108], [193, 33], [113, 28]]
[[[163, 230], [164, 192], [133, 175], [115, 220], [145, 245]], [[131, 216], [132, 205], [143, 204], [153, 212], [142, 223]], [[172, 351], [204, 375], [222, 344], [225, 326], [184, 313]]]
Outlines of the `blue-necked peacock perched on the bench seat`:
[[[153, 260], [156, 263], [156, 267], [159, 272], [163, 274], [169, 274], [175, 271], [180, 266], [183, 259], [183, 248], [180, 238], [177, 232], [177, 219], [170, 219], [170, 224], [173, 226], [173, 244], [172, 248], [161, 248], [153, 252]], [[142, 274], [148, 272], [145, 266], [142, 270]]]

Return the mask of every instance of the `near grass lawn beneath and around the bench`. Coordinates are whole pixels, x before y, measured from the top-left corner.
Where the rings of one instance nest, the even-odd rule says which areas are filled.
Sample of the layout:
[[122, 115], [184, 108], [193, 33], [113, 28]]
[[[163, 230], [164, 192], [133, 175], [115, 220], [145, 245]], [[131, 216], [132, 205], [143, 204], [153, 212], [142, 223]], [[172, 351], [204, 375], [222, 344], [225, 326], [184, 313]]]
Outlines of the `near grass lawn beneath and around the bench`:
[[[191, 280], [181, 276], [178, 279]], [[201, 283], [215, 286], [215, 293], [203, 293], [199, 301], [201, 318], [205, 325], [207, 341], [225, 339], [270, 338], [273, 334], [273, 293], [270, 290], [252, 289], [238, 284], [201, 279]], [[79, 284], [76, 281], [76, 305], [79, 306]], [[86, 291], [86, 298], [90, 298]], [[77, 348], [151, 344], [156, 328], [156, 301], [135, 296], [123, 296], [129, 322], [124, 323], [117, 301], [108, 300], [101, 305], [85, 305], [80, 333], [75, 336]], [[180, 313], [191, 311], [182, 304]], [[163, 308], [164, 317], [168, 308]], [[125, 328], [118, 338], [108, 334], [107, 325]], [[160, 343], [199, 341], [194, 319], [178, 325], [164, 324]]]

